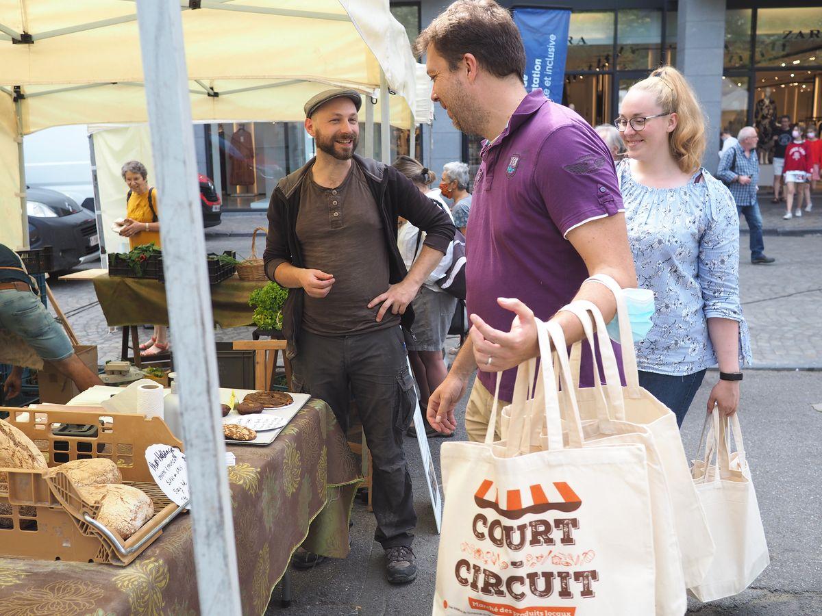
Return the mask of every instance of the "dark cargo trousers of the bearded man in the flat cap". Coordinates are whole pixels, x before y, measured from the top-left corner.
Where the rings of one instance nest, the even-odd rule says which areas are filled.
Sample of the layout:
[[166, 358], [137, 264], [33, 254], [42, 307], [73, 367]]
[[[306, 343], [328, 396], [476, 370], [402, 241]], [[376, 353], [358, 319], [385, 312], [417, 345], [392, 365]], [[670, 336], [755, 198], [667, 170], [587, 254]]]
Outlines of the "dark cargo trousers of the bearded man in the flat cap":
[[293, 388], [328, 403], [344, 432], [353, 395], [371, 451], [374, 539], [383, 548], [410, 546], [417, 514], [403, 435], [417, 396], [399, 325], [349, 336], [303, 330], [292, 360]]

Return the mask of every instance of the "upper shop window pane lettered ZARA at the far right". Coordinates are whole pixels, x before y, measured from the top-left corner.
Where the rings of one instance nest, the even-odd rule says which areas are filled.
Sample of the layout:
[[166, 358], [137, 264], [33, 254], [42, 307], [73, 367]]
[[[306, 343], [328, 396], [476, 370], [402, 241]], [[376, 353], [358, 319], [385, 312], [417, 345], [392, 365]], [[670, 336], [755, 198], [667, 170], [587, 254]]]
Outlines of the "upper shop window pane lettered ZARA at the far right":
[[760, 67], [822, 64], [822, 8], [761, 8], [755, 53]]

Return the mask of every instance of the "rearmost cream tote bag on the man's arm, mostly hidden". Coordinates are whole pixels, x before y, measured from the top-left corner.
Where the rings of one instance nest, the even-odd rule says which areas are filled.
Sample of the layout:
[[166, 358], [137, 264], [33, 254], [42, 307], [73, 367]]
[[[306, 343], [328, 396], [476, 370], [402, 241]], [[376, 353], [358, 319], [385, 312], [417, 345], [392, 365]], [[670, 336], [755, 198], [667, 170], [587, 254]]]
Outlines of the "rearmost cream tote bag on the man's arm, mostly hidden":
[[[631, 335], [628, 309], [621, 288], [613, 278], [605, 274], [595, 274], [589, 280], [605, 285], [617, 298], [616, 318], [619, 319], [622, 367], [626, 387], [621, 388], [621, 392], [615, 387], [606, 388], [609, 393], [610, 408], [615, 410], [612, 418], [644, 425], [653, 434], [671, 494], [686, 586], [695, 586], [708, 572], [713, 560], [714, 546], [705, 513], [690, 476], [685, 448], [682, 446], [677, 427], [677, 417], [651, 393], [640, 387], [634, 338]], [[600, 347], [604, 345], [600, 344]], [[580, 347], [576, 345], [571, 350], [571, 369], [575, 383], [580, 382], [579, 358]], [[577, 399], [583, 420], [596, 419], [593, 395], [593, 389], [578, 391]]]

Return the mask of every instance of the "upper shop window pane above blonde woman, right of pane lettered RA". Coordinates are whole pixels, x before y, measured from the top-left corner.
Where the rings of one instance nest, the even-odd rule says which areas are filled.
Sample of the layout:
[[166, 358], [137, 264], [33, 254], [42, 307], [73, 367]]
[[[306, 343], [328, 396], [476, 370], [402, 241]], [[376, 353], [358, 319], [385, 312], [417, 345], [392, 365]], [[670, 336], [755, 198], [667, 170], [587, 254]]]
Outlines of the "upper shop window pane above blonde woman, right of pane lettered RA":
[[653, 69], [659, 65], [662, 11], [624, 9], [617, 22], [617, 69]]

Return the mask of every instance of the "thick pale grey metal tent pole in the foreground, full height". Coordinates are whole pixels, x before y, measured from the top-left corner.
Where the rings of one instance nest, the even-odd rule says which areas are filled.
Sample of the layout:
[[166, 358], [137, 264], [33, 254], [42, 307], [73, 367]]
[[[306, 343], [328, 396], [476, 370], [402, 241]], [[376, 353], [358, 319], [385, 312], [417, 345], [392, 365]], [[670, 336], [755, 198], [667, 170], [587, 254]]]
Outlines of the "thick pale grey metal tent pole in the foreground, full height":
[[239, 616], [237, 554], [180, 7], [166, 0], [137, 0], [137, 21], [151, 147], [163, 195], [159, 228], [169, 322], [177, 349], [174, 359], [200, 613]]

